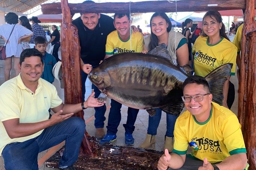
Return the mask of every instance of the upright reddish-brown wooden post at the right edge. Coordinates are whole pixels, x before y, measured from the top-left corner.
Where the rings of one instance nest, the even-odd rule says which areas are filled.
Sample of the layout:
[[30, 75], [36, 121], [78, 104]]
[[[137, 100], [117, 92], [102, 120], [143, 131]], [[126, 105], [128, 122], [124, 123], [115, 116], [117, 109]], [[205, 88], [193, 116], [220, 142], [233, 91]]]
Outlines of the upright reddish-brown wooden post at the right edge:
[[256, 22], [255, 0], [246, 0], [242, 31], [238, 119], [244, 136], [249, 169], [256, 169]]

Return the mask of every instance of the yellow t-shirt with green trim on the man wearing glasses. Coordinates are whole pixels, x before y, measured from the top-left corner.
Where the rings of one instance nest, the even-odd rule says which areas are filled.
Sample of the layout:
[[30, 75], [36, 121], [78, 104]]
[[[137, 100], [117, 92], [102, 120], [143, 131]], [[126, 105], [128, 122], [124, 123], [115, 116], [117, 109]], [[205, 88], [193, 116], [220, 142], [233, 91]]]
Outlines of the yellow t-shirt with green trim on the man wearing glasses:
[[246, 153], [241, 125], [236, 115], [229, 109], [212, 102], [210, 117], [199, 123], [185, 111], [175, 123], [174, 150], [179, 155], [187, 153], [188, 146], [193, 148], [192, 156], [210, 163], [223, 161], [226, 157]]

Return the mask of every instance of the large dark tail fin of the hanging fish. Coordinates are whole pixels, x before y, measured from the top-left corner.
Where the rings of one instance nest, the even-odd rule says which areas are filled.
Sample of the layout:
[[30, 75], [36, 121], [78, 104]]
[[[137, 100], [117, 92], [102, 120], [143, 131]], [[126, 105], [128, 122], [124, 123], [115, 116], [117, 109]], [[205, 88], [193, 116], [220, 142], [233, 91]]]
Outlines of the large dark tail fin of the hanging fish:
[[232, 66], [232, 63], [226, 63], [205, 76], [212, 94], [212, 101], [221, 106], [223, 104], [223, 84], [230, 76]]

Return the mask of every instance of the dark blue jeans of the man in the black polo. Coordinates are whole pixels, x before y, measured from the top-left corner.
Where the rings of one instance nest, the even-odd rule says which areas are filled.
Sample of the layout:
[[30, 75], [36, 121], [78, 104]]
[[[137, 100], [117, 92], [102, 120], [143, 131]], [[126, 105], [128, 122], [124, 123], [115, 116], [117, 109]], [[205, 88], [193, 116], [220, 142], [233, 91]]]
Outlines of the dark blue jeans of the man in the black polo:
[[[88, 74], [84, 73], [81, 71], [81, 82], [82, 82], [82, 101], [84, 102], [84, 95], [85, 95], [85, 81], [87, 78]], [[92, 84], [92, 88], [94, 89], [95, 92], [95, 98], [98, 98], [100, 95], [100, 90]], [[105, 112], [107, 110], [106, 105], [104, 104], [101, 107], [94, 107], [95, 110], [95, 121], [94, 121], [94, 126], [95, 128], [104, 128], [104, 121], [106, 120]]]

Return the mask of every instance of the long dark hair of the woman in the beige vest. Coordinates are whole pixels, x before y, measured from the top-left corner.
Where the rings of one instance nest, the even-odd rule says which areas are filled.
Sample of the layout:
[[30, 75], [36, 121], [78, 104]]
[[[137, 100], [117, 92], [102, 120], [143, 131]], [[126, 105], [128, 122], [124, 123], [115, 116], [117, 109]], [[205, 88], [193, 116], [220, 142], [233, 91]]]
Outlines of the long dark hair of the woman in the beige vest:
[[162, 17], [164, 20], [166, 20], [168, 27], [167, 27], [167, 32], [170, 32], [172, 29], [172, 22], [170, 21], [169, 17], [166, 15], [166, 13], [162, 12], [156, 12], [154, 13], [151, 18], [150, 18], [150, 30], [151, 30], [151, 35], [150, 35], [150, 43], [149, 43], [149, 49], [152, 50], [158, 46], [158, 38], [157, 36], [152, 32], [152, 19], [156, 16]]

